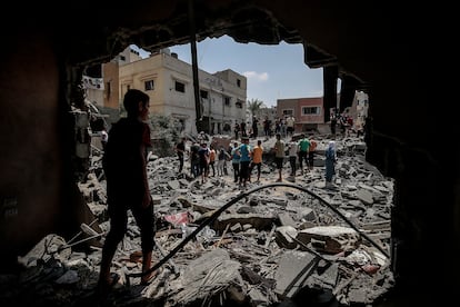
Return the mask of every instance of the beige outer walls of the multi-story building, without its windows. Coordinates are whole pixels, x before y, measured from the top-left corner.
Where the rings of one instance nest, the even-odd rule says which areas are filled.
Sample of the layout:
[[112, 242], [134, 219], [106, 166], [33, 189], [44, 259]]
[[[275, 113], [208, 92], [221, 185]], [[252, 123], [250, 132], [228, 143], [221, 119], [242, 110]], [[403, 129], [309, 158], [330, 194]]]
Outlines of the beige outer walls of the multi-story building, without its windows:
[[[120, 95], [124, 95], [128, 85], [130, 88], [144, 90], [144, 81], [153, 80], [154, 90], [146, 91], [150, 97], [150, 112], [173, 116], [186, 120], [186, 132], [197, 133], [196, 102], [193, 91], [192, 66], [171, 57], [168, 53], [158, 53], [150, 58], [127, 63], [120, 67]], [[240, 80], [240, 87], [237, 86]], [[186, 91], [176, 91], [176, 81], [186, 85]], [[203, 99], [202, 116], [213, 118], [212, 122], [241, 121], [246, 115], [247, 79], [232, 70], [224, 70], [213, 76], [199, 70], [200, 89], [209, 93]], [[231, 98], [230, 106], [224, 106], [223, 97]], [[237, 101], [242, 108], [237, 108]], [[213, 132], [217, 132], [217, 125]]]

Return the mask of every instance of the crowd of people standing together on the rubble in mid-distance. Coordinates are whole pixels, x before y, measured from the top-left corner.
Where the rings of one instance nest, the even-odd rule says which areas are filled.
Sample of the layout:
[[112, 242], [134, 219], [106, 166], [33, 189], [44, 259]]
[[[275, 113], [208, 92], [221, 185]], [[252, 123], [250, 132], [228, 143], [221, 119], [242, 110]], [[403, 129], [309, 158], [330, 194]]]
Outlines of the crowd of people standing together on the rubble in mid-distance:
[[[183, 170], [183, 160], [186, 151], [186, 138], [176, 145], [176, 151], [179, 157], [179, 172]], [[299, 140], [291, 137], [290, 141], [284, 142], [281, 133], [276, 135], [274, 146], [271, 152], [274, 154], [274, 164], [278, 170], [277, 181], [282, 181], [282, 170], [284, 159], [288, 158], [290, 166], [290, 176], [296, 179], [297, 171], [300, 175], [304, 171], [313, 169], [317, 141], [301, 135]], [[334, 143], [330, 143], [326, 152], [326, 182], [330, 186], [332, 176], [334, 175], [333, 166], [336, 161]], [[227, 161], [231, 161], [233, 170], [233, 181], [246, 187], [251, 181], [252, 170], [257, 170], [257, 180], [260, 181], [260, 172], [262, 166], [263, 147], [259, 139], [257, 146], [249, 145], [249, 137], [242, 137], [241, 143], [234, 141], [229, 149], [223, 147], [216, 150], [211, 143], [210, 147], [206, 142], [201, 145], [194, 142], [190, 147], [190, 170], [193, 178], [201, 176], [201, 182], [204, 182], [212, 170], [212, 176], [227, 176]], [[217, 167], [214, 166], [217, 165]]]

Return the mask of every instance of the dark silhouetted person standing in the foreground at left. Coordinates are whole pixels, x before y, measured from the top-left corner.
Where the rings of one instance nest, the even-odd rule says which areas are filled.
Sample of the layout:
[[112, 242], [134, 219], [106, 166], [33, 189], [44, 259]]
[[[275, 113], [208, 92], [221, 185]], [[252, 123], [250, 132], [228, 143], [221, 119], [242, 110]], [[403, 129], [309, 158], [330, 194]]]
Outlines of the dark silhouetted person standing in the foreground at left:
[[[107, 178], [107, 204], [110, 230], [102, 247], [97, 294], [108, 295], [119, 279], [110, 274], [117, 247], [127, 232], [128, 210], [131, 210], [141, 234], [142, 273], [151, 268], [154, 247], [153, 204], [147, 177], [147, 154], [151, 147], [150, 128], [144, 121], [149, 116], [149, 96], [143, 91], [128, 90], [123, 98], [128, 112], [109, 131], [102, 166]], [[141, 277], [148, 284], [156, 271]]]

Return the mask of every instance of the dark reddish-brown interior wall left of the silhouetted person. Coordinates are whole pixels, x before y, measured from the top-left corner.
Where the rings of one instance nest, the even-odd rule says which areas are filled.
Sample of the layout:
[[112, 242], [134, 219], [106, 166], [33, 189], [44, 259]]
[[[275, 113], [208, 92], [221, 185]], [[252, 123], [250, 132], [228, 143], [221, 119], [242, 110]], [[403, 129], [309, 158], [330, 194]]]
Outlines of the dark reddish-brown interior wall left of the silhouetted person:
[[0, 264], [8, 267], [56, 230], [66, 182], [58, 105], [62, 85], [53, 41], [33, 31], [3, 36], [2, 40]]

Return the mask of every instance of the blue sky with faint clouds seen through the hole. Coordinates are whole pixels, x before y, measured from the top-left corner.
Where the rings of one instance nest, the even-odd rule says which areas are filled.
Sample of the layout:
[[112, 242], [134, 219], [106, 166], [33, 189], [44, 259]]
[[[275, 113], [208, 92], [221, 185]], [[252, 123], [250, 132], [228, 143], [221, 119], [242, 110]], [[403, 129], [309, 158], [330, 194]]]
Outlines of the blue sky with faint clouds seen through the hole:
[[[190, 44], [169, 48], [191, 63]], [[144, 53], [141, 52], [141, 56]], [[248, 78], [247, 99], [276, 106], [277, 99], [322, 97], [322, 69], [303, 63], [302, 44], [238, 43], [232, 38], [207, 38], [197, 43], [198, 67], [209, 73], [231, 69]]]

